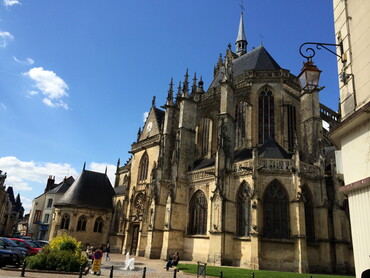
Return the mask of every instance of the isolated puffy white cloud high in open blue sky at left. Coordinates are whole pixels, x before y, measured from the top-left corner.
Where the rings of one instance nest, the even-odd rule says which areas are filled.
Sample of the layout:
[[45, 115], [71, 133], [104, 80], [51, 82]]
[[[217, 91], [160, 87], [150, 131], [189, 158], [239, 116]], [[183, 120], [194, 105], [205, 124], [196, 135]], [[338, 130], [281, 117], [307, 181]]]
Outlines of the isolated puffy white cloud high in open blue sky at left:
[[68, 105], [62, 98], [68, 97], [69, 87], [62, 78], [42, 67], [32, 68], [23, 74], [35, 81], [35, 87], [45, 96], [42, 100], [45, 105], [68, 110]]

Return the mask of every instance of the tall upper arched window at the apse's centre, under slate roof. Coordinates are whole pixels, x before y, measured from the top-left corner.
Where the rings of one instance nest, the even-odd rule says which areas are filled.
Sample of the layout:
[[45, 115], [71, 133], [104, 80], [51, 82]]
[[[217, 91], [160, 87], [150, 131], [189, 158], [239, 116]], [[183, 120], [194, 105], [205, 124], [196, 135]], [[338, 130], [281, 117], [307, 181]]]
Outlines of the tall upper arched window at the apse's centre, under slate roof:
[[263, 144], [274, 136], [274, 97], [265, 88], [258, 97], [258, 143]]

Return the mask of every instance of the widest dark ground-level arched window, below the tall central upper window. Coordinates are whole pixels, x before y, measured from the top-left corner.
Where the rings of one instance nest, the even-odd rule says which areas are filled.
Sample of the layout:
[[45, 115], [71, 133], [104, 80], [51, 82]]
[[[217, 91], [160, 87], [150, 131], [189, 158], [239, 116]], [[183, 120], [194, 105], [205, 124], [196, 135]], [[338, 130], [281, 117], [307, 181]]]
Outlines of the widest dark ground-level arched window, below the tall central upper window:
[[267, 238], [289, 238], [289, 200], [277, 180], [266, 188], [263, 197], [264, 235]]

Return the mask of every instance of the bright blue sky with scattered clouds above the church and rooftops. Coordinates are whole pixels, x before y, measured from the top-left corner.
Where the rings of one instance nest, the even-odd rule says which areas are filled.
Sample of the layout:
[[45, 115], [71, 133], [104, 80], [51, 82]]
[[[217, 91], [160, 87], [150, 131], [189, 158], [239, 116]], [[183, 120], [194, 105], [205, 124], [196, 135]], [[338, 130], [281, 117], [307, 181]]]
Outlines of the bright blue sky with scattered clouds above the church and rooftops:
[[[239, 0], [1, 0], [0, 170], [26, 211], [60, 182], [124, 162], [152, 97], [186, 68], [207, 89], [237, 36]], [[244, 0], [248, 49], [262, 42], [298, 75], [303, 42], [334, 43], [330, 0]], [[336, 57], [319, 51], [321, 102], [338, 107]]]

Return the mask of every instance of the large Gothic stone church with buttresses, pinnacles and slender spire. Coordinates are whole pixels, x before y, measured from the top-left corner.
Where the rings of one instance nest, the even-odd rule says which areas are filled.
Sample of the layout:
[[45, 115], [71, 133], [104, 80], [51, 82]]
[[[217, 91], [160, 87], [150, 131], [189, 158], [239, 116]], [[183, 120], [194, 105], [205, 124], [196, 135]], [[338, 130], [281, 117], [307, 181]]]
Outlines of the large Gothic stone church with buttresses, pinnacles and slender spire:
[[[112, 249], [162, 259], [179, 251], [251, 269], [353, 271], [346, 200], [322, 127], [322, 117], [335, 126], [338, 115], [318, 90], [303, 91], [264, 46], [248, 50], [242, 15], [235, 52], [229, 45], [220, 56], [206, 91], [197, 81], [186, 71], [174, 96], [171, 80], [162, 109], [153, 99], [131, 159], [118, 163]], [[58, 210], [56, 220], [68, 212], [74, 226], [90, 215]]]

